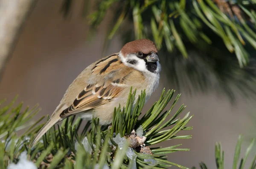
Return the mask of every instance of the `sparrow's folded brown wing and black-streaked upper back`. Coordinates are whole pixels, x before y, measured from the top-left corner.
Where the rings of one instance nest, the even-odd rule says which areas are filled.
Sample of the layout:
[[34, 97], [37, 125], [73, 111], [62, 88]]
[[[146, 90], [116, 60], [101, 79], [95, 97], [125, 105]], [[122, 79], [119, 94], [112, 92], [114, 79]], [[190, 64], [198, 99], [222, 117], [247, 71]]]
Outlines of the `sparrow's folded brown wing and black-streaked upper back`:
[[125, 82], [131, 69], [123, 65], [117, 55], [103, 58], [90, 71], [90, 83], [76, 96], [72, 105], [61, 112], [61, 118], [106, 104], [129, 87]]

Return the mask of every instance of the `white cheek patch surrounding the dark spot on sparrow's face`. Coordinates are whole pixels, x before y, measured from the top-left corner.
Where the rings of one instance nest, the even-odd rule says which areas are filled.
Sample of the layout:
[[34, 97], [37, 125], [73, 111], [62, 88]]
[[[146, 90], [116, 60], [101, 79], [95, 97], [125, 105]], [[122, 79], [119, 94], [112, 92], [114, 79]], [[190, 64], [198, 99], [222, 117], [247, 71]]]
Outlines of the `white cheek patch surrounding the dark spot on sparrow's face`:
[[[125, 66], [132, 67], [132, 68], [134, 68], [134, 69], [137, 69], [137, 70], [140, 71], [140, 72], [145, 72], [145, 71], [147, 71], [145, 61], [144, 61], [143, 59], [138, 58], [136, 55], [129, 54], [129, 55], [127, 55], [126, 58], [125, 58], [125, 57], [122, 55], [122, 53], [119, 52], [119, 57], [120, 57], [122, 63], [124, 63]], [[127, 59], [129, 59], [129, 60], [136, 60], [137, 63], [136, 63], [136, 64], [127, 63]]]

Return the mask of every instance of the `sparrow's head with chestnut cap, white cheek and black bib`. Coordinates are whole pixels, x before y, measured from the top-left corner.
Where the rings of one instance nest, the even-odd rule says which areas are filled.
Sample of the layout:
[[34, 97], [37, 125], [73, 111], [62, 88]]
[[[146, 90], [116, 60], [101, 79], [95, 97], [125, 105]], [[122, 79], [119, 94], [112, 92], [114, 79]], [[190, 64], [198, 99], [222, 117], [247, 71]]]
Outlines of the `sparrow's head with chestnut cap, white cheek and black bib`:
[[126, 66], [140, 72], [159, 73], [161, 70], [157, 48], [148, 39], [126, 43], [119, 52], [119, 57]]

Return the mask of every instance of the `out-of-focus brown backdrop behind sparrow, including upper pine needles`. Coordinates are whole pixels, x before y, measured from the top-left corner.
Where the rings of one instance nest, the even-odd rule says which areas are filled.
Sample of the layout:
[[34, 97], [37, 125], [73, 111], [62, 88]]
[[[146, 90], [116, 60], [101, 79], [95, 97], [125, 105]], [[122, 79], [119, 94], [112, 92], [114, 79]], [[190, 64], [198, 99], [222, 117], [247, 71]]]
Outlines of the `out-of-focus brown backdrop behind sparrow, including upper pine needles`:
[[[143, 111], [151, 107], [166, 88], [175, 89], [176, 95], [182, 93], [176, 109], [184, 103], [187, 105], [185, 111], [194, 115], [189, 122], [194, 129], [186, 131], [192, 139], [169, 140], [160, 146], [182, 143], [183, 148], [190, 148], [190, 151], [169, 154], [170, 161], [187, 167], [198, 166], [204, 161], [211, 169], [215, 168], [215, 142], [219, 141], [226, 152], [225, 168], [231, 168], [239, 134], [245, 135], [243, 147], [256, 136], [256, 42], [255, 23], [249, 15], [251, 9], [245, 6], [249, 11], [245, 14], [234, 3], [229, 4], [230, 13], [223, 8], [227, 4], [221, 6], [215, 1], [215, 6], [227, 16], [221, 15], [227, 21], [220, 22], [219, 27], [209, 18], [212, 26], [201, 21], [196, 7], [192, 6], [196, 1], [188, 1], [186, 7], [183, 1], [152, 1], [147, 9], [141, 5], [144, 1], [136, 4], [131, 1], [102, 2], [105, 4], [96, 0], [34, 1], [28, 7], [27, 17], [21, 18], [22, 29], [6, 55], [4, 69], [1, 68], [1, 99], [10, 101], [18, 94], [18, 101], [25, 105], [40, 104], [42, 110], [35, 119], [51, 115], [67, 87], [83, 69], [102, 57], [119, 52], [126, 42], [147, 37], [157, 44], [163, 70], [160, 86]], [[141, 15], [136, 14], [140, 10]], [[203, 7], [201, 11], [204, 13]], [[116, 24], [118, 21], [120, 24]], [[248, 29], [244, 29], [244, 23]], [[238, 27], [241, 35], [230, 29], [232, 24]], [[224, 40], [222, 30], [230, 42]], [[5, 33], [1, 29], [0, 32]]]

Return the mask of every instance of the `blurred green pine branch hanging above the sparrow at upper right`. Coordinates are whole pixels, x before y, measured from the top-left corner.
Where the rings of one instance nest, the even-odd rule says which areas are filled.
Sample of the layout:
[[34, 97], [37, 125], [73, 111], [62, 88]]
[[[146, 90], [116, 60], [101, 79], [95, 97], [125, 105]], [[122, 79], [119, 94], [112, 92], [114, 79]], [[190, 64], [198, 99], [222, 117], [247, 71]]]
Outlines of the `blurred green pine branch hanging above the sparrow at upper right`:
[[[108, 10], [116, 13], [109, 39], [128, 19], [134, 25], [135, 39], [153, 38], [158, 49], [174, 52], [177, 48], [184, 57], [188, 57], [184, 41], [200, 48], [199, 43], [212, 43], [210, 34], [221, 37], [227, 50], [236, 54], [240, 67], [249, 62], [245, 45], [256, 49], [254, 1], [102, 0], [95, 6], [96, 11], [89, 15], [93, 28], [99, 26]], [[122, 34], [126, 33], [122, 29]]]

